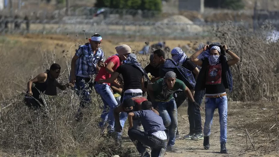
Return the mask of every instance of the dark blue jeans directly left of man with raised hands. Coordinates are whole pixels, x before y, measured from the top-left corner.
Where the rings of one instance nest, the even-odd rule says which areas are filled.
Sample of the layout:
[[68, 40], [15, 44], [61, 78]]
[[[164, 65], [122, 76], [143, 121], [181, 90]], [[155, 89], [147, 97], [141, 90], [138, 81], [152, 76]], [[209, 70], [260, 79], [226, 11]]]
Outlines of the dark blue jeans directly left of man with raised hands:
[[[195, 91], [194, 99], [200, 105], [203, 102], [203, 97], [205, 95], [204, 90]], [[202, 133], [202, 124], [200, 117], [200, 109], [197, 106], [194, 106], [191, 101], [188, 99], [188, 120], [190, 134], [201, 134]]]

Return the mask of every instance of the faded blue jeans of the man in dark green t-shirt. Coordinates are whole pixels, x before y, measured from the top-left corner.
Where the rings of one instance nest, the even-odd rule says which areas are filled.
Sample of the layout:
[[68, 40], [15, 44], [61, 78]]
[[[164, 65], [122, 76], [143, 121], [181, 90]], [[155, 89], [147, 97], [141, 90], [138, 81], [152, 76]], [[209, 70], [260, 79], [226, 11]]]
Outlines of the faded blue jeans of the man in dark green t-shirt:
[[169, 129], [169, 142], [168, 145], [174, 145], [175, 134], [177, 130], [177, 108], [174, 98], [168, 102], [156, 102], [159, 114], [163, 119], [164, 125]]

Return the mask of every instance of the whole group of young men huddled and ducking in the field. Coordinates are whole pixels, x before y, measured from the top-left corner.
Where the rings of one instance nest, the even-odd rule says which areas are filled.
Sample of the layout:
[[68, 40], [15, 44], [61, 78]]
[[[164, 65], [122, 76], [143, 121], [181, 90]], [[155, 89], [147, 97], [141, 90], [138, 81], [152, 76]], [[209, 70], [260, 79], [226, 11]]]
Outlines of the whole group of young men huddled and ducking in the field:
[[[75, 118], [80, 120], [82, 109], [92, 103], [90, 93], [94, 88], [103, 101], [100, 129], [103, 132], [107, 129], [107, 136], [114, 137], [116, 144], [120, 144], [128, 119], [128, 136], [144, 157], [150, 156], [148, 149], [151, 157], [164, 156], [165, 151], [178, 152], [175, 140], [180, 138], [203, 139], [204, 149], [208, 150], [213, 114], [218, 109], [220, 153], [228, 153], [226, 89], [232, 91], [229, 67], [239, 62], [239, 57], [227, 45], [204, 45], [190, 57], [175, 47], [171, 51], [172, 59], [166, 59], [164, 51], [156, 49], [150, 55], [150, 63], [143, 68], [126, 44], [116, 46], [117, 54], [105, 60], [99, 47], [101, 41], [101, 35], [94, 34], [88, 43], [79, 47], [71, 62], [68, 84], [61, 85], [56, 81], [61, 69], [56, 63], [30, 80], [26, 105], [38, 109], [44, 105], [39, 98], [43, 92], [57, 95], [56, 87], [60, 90], [74, 87], [80, 98]], [[232, 59], [228, 60], [226, 54]], [[200, 110], [204, 96], [202, 132]], [[189, 134], [180, 137], [177, 108], [187, 98]]]

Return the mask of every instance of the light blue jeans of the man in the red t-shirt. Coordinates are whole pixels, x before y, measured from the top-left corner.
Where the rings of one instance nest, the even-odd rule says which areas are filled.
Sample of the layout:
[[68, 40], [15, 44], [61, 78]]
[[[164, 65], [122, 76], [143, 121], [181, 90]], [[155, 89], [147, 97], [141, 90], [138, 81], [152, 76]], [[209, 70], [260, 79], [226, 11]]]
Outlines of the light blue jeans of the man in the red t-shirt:
[[[101, 96], [104, 103], [103, 112], [101, 114], [102, 121], [99, 123], [99, 126], [101, 128], [104, 126], [104, 123], [106, 121], [106, 116], [107, 116], [107, 120], [109, 123], [108, 132], [111, 133], [114, 131], [114, 122], [115, 122], [113, 109], [117, 107], [118, 103], [115, 100], [109, 85], [104, 83], [96, 84], [94, 88], [96, 92]], [[108, 108], [109, 108], [109, 112], [107, 111]]]

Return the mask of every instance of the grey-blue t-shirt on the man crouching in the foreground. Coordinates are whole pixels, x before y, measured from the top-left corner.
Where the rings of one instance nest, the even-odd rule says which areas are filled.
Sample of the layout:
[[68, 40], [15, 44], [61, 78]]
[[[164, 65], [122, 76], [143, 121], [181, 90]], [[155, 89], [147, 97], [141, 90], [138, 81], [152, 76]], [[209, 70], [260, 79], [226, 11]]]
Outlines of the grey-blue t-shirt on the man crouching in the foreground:
[[139, 118], [145, 132], [147, 132], [148, 135], [156, 131], [166, 130], [162, 117], [152, 110], [140, 110], [133, 113], [135, 114], [134, 117]]

